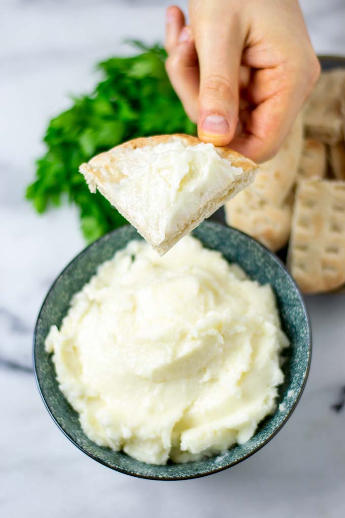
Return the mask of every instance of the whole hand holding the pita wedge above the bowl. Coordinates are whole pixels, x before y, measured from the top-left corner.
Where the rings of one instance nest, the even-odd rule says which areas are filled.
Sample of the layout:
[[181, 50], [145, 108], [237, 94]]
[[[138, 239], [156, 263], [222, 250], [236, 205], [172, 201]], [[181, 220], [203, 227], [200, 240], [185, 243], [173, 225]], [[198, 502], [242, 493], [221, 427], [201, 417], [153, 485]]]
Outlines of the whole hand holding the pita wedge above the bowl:
[[167, 72], [204, 142], [272, 157], [320, 74], [297, 0], [190, 0], [167, 10]]

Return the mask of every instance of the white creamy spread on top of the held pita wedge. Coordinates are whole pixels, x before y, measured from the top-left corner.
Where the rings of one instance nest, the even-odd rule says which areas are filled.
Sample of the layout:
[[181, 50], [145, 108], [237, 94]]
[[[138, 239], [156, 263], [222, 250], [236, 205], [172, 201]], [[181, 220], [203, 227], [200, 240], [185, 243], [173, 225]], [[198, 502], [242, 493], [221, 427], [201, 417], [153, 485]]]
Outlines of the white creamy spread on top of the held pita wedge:
[[104, 189], [125, 214], [135, 209], [139, 226], [157, 244], [178, 232], [209, 200], [229, 187], [231, 180], [243, 174], [242, 167], [233, 167], [212, 144], [203, 142], [185, 146], [177, 140], [154, 147], [114, 148], [108, 156], [109, 161], [113, 159], [122, 179], [114, 182], [109, 169], [100, 167]]

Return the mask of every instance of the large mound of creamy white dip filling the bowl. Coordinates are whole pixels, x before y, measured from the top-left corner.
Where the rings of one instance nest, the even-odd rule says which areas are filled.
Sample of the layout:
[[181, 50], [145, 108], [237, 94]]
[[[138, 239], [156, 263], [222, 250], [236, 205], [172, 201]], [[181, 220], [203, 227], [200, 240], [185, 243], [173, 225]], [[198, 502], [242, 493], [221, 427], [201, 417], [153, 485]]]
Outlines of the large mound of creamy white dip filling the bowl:
[[153, 464], [247, 441], [276, 408], [286, 346], [271, 286], [191, 236], [163, 257], [128, 243], [46, 340], [87, 436]]

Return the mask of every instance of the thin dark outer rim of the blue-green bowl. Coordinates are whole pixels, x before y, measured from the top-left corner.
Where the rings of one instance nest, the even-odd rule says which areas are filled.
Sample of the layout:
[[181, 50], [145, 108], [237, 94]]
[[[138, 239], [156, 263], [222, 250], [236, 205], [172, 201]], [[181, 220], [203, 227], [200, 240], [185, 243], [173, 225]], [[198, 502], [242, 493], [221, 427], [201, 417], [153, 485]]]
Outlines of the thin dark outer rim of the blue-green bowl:
[[72, 444], [74, 444], [74, 446], [76, 446], [81, 452], [83, 452], [88, 457], [93, 458], [99, 464], [102, 464], [103, 466], [106, 466], [107, 468], [110, 468], [113, 471], [117, 471], [119, 473], [124, 473], [126, 475], [131, 476], [131, 477], [136, 477], [136, 478], [139, 478], [139, 479], [146, 479], [146, 480], [171, 481], [171, 482], [173, 482], [173, 481], [181, 481], [181, 480], [190, 480], [190, 479], [197, 479], [197, 478], [201, 478], [201, 477], [207, 477], [208, 475], [212, 475], [214, 473], [218, 473], [219, 471], [223, 471], [225, 469], [231, 468], [233, 466], [236, 466], [236, 464], [239, 464], [239, 463], [245, 461], [247, 458], [251, 457], [254, 453], [257, 453], [259, 450], [261, 450], [261, 448], [263, 448], [268, 442], [270, 442], [276, 436], [278, 431], [280, 431], [281, 428], [287, 423], [287, 421], [289, 420], [290, 416], [294, 412], [294, 410], [295, 410], [299, 400], [302, 397], [302, 394], [304, 392], [304, 389], [305, 389], [305, 386], [306, 386], [306, 382], [307, 382], [307, 379], [308, 379], [308, 376], [309, 376], [310, 364], [311, 364], [311, 355], [312, 355], [312, 334], [311, 334], [310, 318], [309, 318], [309, 314], [308, 314], [308, 311], [307, 311], [307, 307], [306, 307], [303, 295], [302, 295], [301, 291], [299, 290], [296, 281], [293, 279], [293, 277], [291, 276], [290, 272], [288, 271], [286, 265], [284, 265], [284, 263], [280, 260], [280, 258], [274, 252], [272, 252], [271, 250], [266, 248], [257, 239], [254, 239], [253, 237], [249, 236], [245, 232], [239, 231], [237, 228], [234, 228], [234, 227], [232, 227], [230, 225], [225, 225], [223, 223], [219, 223], [219, 222], [215, 222], [215, 221], [206, 221], [206, 222], [202, 222], [202, 223], [206, 223], [207, 225], [212, 225], [212, 226], [228, 228], [228, 229], [231, 229], [232, 232], [235, 232], [235, 233], [238, 233], [238, 234], [242, 234], [249, 241], [253, 241], [254, 243], [256, 243], [256, 246], [261, 247], [269, 256], [271, 256], [271, 258], [277, 264], [277, 266], [282, 268], [285, 271], [286, 275], [288, 276], [289, 280], [291, 281], [292, 285], [295, 288], [295, 291], [296, 291], [296, 293], [298, 295], [299, 303], [301, 304], [301, 306], [303, 308], [303, 311], [304, 311], [304, 314], [306, 316], [306, 323], [307, 323], [308, 337], [309, 337], [309, 340], [308, 340], [308, 343], [309, 343], [309, 355], [308, 355], [308, 364], [307, 364], [307, 367], [306, 367], [306, 370], [305, 370], [305, 376], [304, 376], [303, 383], [302, 383], [302, 385], [301, 385], [301, 387], [299, 389], [298, 396], [297, 396], [293, 406], [291, 407], [291, 409], [288, 412], [288, 414], [284, 417], [282, 422], [279, 424], [279, 426], [259, 446], [254, 448], [252, 451], [250, 451], [249, 453], [247, 453], [243, 457], [241, 457], [241, 458], [237, 459], [236, 461], [231, 462], [231, 463], [229, 463], [229, 464], [227, 464], [225, 466], [220, 466], [219, 468], [215, 468], [215, 469], [209, 470], [209, 471], [204, 472], [204, 473], [196, 473], [196, 474], [187, 475], [187, 476], [156, 477], [156, 476], [153, 476], [153, 475], [145, 475], [145, 474], [141, 474], [141, 473], [130, 472], [130, 471], [127, 471], [127, 470], [119, 468], [119, 467], [111, 466], [106, 461], [103, 461], [102, 458], [96, 457], [92, 453], [87, 452], [86, 450], [84, 450], [84, 448], [80, 444], [78, 444], [78, 442], [74, 441], [74, 439], [72, 439], [72, 437], [70, 437], [68, 435], [67, 431], [58, 423], [57, 419], [55, 418], [54, 412], [52, 411], [51, 407], [49, 406], [49, 402], [47, 401], [47, 399], [43, 395], [43, 392], [42, 392], [42, 389], [41, 389], [41, 386], [40, 386], [40, 383], [39, 383], [38, 375], [37, 375], [37, 368], [36, 368], [36, 336], [37, 336], [37, 328], [38, 328], [38, 324], [39, 324], [39, 321], [40, 321], [41, 313], [43, 311], [44, 306], [46, 305], [46, 301], [48, 300], [48, 298], [50, 296], [50, 293], [53, 291], [53, 289], [55, 287], [55, 284], [65, 274], [65, 271], [69, 268], [69, 266], [72, 263], [74, 263], [74, 261], [76, 261], [80, 256], [82, 256], [85, 253], [87, 253], [87, 251], [91, 247], [97, 246], [98, 242], [100, 242], [103, 239], [106, 239], [107, 236], [116, 233], [121, 228], [130, 227], [131, 225], [130, 224], [123, 225], [122, 227], [115, 228], [112, 231], [108, 232], [107, 234], [104, 234], [103, 236], [99, 237], [98, 239], [96, 239], [92, 243], [88, 244], [88, 246], [86, 246], [76, 256], [74, 256], [71, 259], [71, 261], [69, 261], [69, 263], [57, 275], [57, 277], [55, 278], [55, 280], [51, 284], [51, 286], [50, 286], [50, 288], [49, 288], [49, 290], [47, 292], [47, 295], [44, 297], [43, 302], [42, 302], [41, 307], [40, 307], [39, 312], [38, 312], [38, 316], [37, 316], [37, 320], [36, 320], [36, 324], [35, 324], [35, 328], [34, 328], [34, 335], [33, 335], [33, 366], [34, 366], [35, 380], [36, 380], [36, 384], [37, 384], [37, 387], [38, 387], [38, 392], [39, 392], [39, 394], [40, 394], [40, 396], [42, 398], [43, 404], [46, 407], [46, 409], [48, 410], [48, 413], [50, 414], [52, 420], [54, 421], [56, 426], [62, 431], [62, 433], [65, 435], [65, 437], [67, 437], [67, 439], [69, 439], [69, 441]]

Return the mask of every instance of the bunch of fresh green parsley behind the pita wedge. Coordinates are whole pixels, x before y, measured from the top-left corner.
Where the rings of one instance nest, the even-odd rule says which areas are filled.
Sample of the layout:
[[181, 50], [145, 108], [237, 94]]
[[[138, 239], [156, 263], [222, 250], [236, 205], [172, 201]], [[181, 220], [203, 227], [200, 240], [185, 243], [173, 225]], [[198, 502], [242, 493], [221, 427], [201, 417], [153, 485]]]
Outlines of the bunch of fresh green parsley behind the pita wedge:
[[95, 90], [73, 98], [73, 106], [50, 121], [43, 139], [48, 150], [37, 161], [36, 180], [26, 190], [40, 213], [59, 206], [67, 195], [79, 207], [88, 242], [126, 220], [101, 194], [89, 192], [80, 164], [131, 138], [196, 132], [169, 82], [162, 47], [133, 43], [141, 54], [99, 63], [103, 80]]

